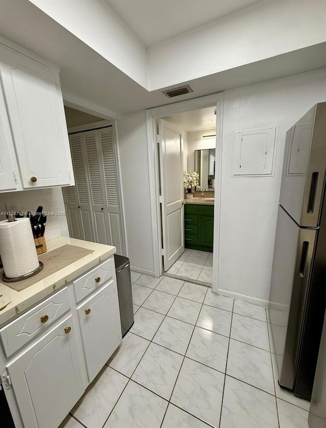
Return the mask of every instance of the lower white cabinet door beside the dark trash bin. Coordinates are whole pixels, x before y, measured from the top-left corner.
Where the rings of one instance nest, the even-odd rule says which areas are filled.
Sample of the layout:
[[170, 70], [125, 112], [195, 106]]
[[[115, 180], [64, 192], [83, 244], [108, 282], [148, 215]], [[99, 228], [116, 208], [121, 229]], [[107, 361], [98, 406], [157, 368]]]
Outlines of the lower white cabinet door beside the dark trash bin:
[[121, 342], [117, 287], [113, 281], [78, 308], [89, 381], [103, 367]]

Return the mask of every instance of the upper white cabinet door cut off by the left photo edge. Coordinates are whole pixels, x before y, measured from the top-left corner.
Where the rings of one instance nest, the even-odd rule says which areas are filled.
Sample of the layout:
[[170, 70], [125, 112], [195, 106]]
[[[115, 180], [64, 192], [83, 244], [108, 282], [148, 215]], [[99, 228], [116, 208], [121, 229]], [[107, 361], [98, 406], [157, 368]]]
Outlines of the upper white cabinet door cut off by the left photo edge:
[[17, 171], [10, 157], [10, 148], [13, 151], [5, 98], [0, 85], [0, 191], [16, 190], [18, 184], [15, 175]]

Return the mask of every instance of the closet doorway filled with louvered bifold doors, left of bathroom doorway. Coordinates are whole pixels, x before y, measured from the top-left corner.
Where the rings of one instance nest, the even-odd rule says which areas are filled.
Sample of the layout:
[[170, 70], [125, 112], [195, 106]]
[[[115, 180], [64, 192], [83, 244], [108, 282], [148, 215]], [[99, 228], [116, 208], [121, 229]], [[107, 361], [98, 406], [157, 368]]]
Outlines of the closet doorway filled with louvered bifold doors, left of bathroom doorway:
[[75, 186], [63, 187], [72, 238], [125, 254], [114, 122], [65, 106]]

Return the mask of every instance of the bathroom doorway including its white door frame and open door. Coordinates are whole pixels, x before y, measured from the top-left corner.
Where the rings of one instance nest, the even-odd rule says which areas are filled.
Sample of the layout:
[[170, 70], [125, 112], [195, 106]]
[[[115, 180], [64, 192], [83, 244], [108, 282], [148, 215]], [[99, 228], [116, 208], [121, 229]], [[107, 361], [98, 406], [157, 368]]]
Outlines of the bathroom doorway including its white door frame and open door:
[[[222, 102], [223, 95], [214, 94], [147, 111], [149, 166], [155, 172], [151, 178], [155, 276], [172, 275], [212, 286], [215, 292]], [[185, 198], [183, 171], [200, 175], [196, 188], [192, 186], [192, 199]]]

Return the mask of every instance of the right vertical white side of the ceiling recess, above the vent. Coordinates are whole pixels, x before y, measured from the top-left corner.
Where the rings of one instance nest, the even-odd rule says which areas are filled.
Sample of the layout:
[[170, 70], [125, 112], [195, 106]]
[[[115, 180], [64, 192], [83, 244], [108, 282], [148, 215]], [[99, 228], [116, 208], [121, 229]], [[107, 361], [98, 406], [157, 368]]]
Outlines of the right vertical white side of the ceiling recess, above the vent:
[[322, 43], [325, 15], [324, 0], [263, 1], [149, 46], [149, 90]]

